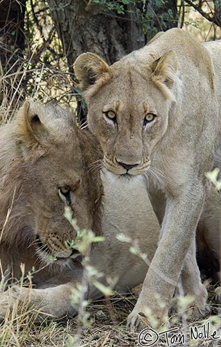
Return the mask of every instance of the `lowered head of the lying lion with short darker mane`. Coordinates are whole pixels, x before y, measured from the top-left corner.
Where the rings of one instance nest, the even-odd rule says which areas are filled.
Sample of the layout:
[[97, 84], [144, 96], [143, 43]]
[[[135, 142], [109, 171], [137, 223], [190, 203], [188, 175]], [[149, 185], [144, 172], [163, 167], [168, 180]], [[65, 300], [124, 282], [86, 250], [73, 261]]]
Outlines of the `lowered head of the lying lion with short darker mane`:
[[100, 232], [102, 187], [93, 169], [94, 139], [78, 129], [67, 110], [26, 101], [16, 119], [1, 128], [0, 143], [0, 255], [3, 249], [25, 253], [34, 244], [45, 262], [50, 256], [69, 262], [78, 253], [66, 246], [76, 237], [64, 218], [66, 205], [80, 228]]

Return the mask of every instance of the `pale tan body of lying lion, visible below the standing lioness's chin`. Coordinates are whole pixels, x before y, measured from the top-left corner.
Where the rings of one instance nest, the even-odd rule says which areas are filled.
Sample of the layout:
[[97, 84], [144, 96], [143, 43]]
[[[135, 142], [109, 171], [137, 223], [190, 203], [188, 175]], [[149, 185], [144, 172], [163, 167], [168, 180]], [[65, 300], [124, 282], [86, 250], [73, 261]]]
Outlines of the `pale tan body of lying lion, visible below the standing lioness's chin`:
[[[151, 261], [157, 248], [159, 224], [143, 176], [116, 178], [104, 171], [101, 178], [105, 193], [102, 217], [105, 242], [94, 246], [91, 261], [106, 276], [118, 278], [116, 290], [122, 292], [142, 282], [148, 269], [148, 264], [130, 251], [130, 246], [137, 247]], [[119, 241], [119, 234], [125, 235], [128, 242]]]

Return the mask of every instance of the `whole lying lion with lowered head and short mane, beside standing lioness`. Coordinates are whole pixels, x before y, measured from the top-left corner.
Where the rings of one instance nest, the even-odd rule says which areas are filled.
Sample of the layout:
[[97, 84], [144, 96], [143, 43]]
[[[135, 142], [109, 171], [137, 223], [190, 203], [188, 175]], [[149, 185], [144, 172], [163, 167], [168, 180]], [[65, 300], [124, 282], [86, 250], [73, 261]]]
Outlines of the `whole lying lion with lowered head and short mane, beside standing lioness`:
[[[116, 239], [120, 232], [136, 239], [149, 260], [157, 248], [159, 224], [142, 176], [128, 184], [127, 178], [113, 180], [108, 171], [99, 173], [100, 149], [94, 137], [74, 124], [71, 113], [52, 104], [24, 103], [16, 119], [1, 128], [0, 142], [1, 277], [4, 274], [9, 283], [19, 278], [21, 262], [26, 271], [33, 266], [37, 270], [35, 289], [15, 287], [13, 298], [28, 297], [30, 304], [41, 305], [56, 318], [75, 313], [69, 296], [81, 280], [82, 268], [79, 254], [64, 244], [76, 237], [63, 217], [65, 205], [71, 206], [80, 228], [105, 236], [105, 242], [92, 247], [91, 264], [105, 276], [118, 278], [117, 291], [143, 281], [148, 265]], [[214, 198], [204, 216], [211, 215], [213, 202]], [[200, 225], [202, 244], [208, 244], [216, 259], [218, 217], [206, 217]], [[53, 263], [51, 256], [57, 258]], [[90, 296], [101, 294], [91, 288]], [[8, 301], [6, 291], [0, 296], [2, 318]]]

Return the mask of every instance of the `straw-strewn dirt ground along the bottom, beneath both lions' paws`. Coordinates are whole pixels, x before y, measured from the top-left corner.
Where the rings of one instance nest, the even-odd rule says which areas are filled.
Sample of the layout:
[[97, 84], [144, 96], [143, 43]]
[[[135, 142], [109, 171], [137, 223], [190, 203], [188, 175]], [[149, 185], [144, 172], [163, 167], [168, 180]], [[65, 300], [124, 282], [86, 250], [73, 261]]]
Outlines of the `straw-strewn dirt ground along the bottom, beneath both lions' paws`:
[[[138, 335], [126, 331], [127, 315], [136, 303], [138, 293], [131, 292], [127, 296], [116, 294], [108, 300], [100, 300], [92, 303], [88, 311], [92, 323], [82, 328], [78, 347], [138, 347]], [[185, 347], [218, 347], [221, 346], [221, 319], [218, 317], [218, 305], [214, 304], [214, 287], [209, 288], [209, 305], [211, 314], [202, 321], [184, 321], [182, 314], [176, 317], [176, 323], [170, 324], [171, 328], [179, 328], [176, 334], [184, 334], [184, 344], [177, 341], [173, 343], [172, 332], [161, 335], [156, 344], [143, 344], [143, 346], [185, 346]], [[0, 325], [0, 347], [73, 347], [71, 338], [78, 331], [78, 319], [64, 319], [64, 321], [44, 321], [34, 323], [29, 313], [29, 319], [20, 315], [10, 317], [10, 320]], [[172, 319], [173, 320], [173, 319]], [[209, 323], [209, 334], [215, 330], [219, 339], [206, 339], [201, 336], [203, 326], [207, 329]], [[8, 330], [7, 330], [8, 326]], [[191, 327], [199, 333], [198, 339], [191, 340]], [[195, 330], [194, 330], [195, 329]]]

